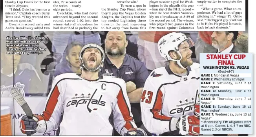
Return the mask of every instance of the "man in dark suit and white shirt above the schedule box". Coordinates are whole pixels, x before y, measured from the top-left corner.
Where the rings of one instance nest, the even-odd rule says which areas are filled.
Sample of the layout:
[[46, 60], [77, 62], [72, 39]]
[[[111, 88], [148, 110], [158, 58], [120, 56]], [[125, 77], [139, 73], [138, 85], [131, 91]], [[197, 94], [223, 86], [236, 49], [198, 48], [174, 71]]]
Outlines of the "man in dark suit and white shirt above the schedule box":
[[[212, 33], [212, 46], [218, 49], [217, 53], [242, 53], [234, 41], [238, 37], [238, 31], [214, 31]], [[213, 134], [214, 136], [248, 136], [248, 134]]]

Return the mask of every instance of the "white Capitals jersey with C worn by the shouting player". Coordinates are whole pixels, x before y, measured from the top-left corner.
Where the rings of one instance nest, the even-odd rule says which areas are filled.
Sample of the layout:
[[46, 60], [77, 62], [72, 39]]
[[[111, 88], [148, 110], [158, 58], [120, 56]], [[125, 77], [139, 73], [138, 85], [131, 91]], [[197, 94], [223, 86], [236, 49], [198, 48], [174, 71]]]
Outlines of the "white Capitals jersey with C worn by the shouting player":
[[37, 132], [60, 126], [60, 135], [112, 135], [112, 116], [115, 129], [123, 135], [137, 128], [130, 110], [123, 79], [103, 76], [88, 81], [75, 73], [64, 73], [53, 80], [43, 112], [46, 127]]

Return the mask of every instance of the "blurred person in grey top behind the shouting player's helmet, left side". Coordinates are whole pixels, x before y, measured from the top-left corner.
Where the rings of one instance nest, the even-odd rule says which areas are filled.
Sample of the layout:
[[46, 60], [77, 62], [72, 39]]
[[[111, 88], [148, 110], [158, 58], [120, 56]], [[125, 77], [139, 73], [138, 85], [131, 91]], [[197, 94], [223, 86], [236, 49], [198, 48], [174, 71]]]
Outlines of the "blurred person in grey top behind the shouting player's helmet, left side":
[[83, 45], [80, 42], [71, 42], [66, 47], [63, 53], [63, 59], [60, 64], [56, 65], [54, 76], [60, 75], [62, 73], [81, 73], [79, 66], [79, 53]]

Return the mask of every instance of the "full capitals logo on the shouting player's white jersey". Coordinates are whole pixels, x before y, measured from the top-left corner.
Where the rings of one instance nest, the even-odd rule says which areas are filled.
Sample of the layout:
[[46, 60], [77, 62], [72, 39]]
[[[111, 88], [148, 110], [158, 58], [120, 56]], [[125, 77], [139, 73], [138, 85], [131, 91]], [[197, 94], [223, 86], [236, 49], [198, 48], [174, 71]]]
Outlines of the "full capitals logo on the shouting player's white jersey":
[[97, 110], [97, 108], [91, 109], [89, 107], [90, 104], [105, 106], [106, 101], [102, 100], [102, 95], [99, 97], [99, 99], [93, 98], [96, 92], [97, 92], [97, 89], [94, 91], [92, 95], [90, 93], [87, 95], [82, 93], [81, 96], [78, 96], [78, 94], [75, 94], [76, 97], [72, 98], [74, 100], [69, 101], [66, 107], [70, 107], [70, 106], [78, 107], [81, 104], [87, 104], [86, 108], [89, 112], [91, 112], [92, 110]]

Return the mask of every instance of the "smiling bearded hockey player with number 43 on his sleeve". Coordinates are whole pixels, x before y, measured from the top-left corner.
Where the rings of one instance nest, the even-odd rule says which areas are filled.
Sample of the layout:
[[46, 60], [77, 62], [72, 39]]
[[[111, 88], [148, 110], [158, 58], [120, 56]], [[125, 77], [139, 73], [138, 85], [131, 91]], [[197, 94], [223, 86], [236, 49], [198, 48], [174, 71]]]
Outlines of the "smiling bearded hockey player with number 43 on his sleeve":
[[152, 135], [199, 135], [199, 119], [194, 116], [199, 65], [193, 64], [189, 49], [194, 42], [185, 34], [172, 32], [157, 45], [169, 65], [154, 69], [145, 82], [141, 96], [143, 124]]

